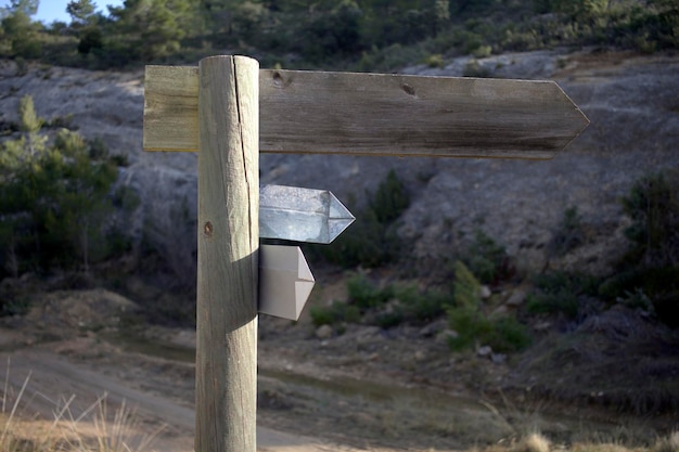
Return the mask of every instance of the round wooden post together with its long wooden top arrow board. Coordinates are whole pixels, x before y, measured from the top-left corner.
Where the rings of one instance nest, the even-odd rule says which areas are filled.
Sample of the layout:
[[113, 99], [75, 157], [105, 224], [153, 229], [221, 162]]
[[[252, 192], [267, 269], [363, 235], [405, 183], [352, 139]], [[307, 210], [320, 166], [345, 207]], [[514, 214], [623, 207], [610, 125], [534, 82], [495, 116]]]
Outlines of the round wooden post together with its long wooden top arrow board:
[[545, 159], [588, 124], [552, 81], [149, 66], [144, 150], [198, 152], [196, 452], [256, 450], [259, 151]]

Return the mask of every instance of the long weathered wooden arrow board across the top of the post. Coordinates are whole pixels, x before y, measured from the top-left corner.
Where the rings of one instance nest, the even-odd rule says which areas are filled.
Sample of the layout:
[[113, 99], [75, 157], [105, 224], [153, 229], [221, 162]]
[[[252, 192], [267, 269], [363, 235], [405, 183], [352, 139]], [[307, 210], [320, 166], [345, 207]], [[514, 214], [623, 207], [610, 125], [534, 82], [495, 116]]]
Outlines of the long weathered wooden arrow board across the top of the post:
[[[553, 81], [261, 69], [260, 152], [551, 158], [589, 124]], [[196, 151], [197, 70], [148, 66], [144, 150]]]

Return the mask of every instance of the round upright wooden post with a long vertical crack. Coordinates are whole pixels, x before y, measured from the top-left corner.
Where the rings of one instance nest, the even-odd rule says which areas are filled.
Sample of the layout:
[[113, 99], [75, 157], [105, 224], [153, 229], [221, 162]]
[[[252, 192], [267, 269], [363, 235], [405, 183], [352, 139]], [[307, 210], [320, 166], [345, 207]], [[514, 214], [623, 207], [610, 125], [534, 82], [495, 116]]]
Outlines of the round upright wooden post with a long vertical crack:
[[259, 64], [200, 62], [196, 452], [255, 452]]

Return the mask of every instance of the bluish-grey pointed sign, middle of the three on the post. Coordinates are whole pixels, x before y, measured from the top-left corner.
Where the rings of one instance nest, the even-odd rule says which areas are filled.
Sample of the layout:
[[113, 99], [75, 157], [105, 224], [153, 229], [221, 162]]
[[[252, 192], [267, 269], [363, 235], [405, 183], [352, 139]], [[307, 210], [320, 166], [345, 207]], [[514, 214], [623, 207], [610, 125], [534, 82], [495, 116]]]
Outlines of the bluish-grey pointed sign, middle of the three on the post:
[[259, 189], [259, 237], [331, 243], [355, 218], [326, 190], [265, 185]]

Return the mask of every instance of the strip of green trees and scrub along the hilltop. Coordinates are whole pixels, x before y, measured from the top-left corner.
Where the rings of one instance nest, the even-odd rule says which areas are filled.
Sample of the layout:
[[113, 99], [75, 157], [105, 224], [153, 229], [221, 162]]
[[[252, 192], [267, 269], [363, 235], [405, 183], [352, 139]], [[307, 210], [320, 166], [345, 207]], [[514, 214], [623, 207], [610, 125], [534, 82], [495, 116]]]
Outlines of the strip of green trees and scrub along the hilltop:
[[654, 52], [679, 43], [672, 0], [72, 0], [69, 23], [33, 22], [38, 0], [0, 9], [0, 56], [129, 67], [244, 53], [262, 66], [390, 70], [417, 61], [556, 46]]

